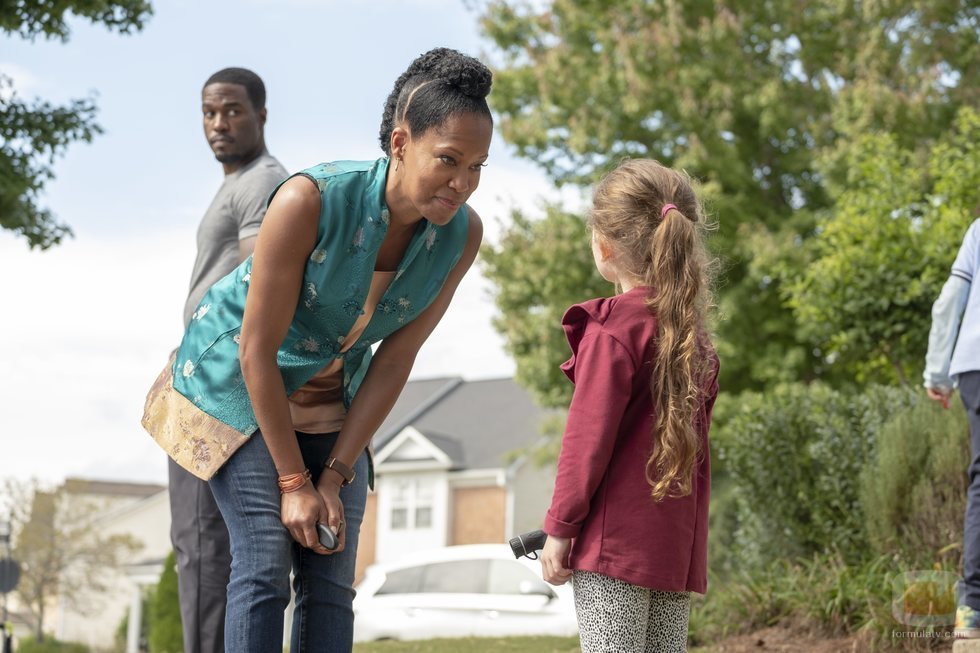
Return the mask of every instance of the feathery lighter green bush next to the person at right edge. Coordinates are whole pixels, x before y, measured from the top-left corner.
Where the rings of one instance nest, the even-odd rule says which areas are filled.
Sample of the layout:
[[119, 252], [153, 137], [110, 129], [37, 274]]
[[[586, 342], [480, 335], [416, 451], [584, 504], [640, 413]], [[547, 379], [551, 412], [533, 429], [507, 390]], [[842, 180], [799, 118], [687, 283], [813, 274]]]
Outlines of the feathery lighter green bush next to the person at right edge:
[[871, 545], [910, 568], [959, 569], [970, 460], [962, 407], [923, 395], [884, 425], [876, 449], [861, 484]]

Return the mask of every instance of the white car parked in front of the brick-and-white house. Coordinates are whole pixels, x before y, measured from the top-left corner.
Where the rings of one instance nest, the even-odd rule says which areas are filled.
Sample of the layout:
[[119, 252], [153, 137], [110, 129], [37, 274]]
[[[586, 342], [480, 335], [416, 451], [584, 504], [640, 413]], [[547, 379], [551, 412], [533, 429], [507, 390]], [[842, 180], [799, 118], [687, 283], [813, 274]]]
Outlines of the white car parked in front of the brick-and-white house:
[[571, 585], [506, 544], [408, 554], [368, 567], [354, 598], [354, 641], [578, 634]]

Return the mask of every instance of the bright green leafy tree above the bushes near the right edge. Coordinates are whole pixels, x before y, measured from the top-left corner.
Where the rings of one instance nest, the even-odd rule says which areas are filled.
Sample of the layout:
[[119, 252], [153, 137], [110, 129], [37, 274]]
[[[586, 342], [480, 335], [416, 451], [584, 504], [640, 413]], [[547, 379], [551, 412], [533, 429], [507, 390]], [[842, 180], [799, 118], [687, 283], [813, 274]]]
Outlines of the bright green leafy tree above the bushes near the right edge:
[[811, 338], [859, 380], [908, 383], [922, 370], [931, 307], [980, 206], [980, 114], [960, 111], [927, 156], [893, 134], [840, 148], [847, 179], [789, 270], [788, 297]]

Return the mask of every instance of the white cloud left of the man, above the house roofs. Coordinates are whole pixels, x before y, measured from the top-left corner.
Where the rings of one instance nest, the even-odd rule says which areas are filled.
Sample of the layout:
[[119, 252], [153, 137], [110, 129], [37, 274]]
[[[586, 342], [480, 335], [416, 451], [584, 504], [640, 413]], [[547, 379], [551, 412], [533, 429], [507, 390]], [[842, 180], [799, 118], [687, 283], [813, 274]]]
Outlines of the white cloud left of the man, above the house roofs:
[[161, 480], [139, 426], [143, 396], [180, 337], [192, 234], [68, 241], [0, 237], [0, 477]]

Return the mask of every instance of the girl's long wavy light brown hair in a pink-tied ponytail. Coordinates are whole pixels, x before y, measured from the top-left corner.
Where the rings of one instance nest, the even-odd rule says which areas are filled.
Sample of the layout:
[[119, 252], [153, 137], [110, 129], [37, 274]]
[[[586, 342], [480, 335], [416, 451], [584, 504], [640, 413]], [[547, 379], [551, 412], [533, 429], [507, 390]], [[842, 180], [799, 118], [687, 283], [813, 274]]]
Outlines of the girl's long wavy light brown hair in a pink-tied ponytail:
[[589, 226], [619, 254], [624, 272], [653, 289], [646, 300], [657, 321], [646, 478], [658, 501], [688, 495], [704, 454], [698, 420], [714, 367], [706, 322], [715, 261], [704, 243], [704, 209], [687, 174], [635, 159], [596, 187]]

